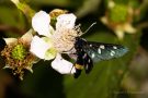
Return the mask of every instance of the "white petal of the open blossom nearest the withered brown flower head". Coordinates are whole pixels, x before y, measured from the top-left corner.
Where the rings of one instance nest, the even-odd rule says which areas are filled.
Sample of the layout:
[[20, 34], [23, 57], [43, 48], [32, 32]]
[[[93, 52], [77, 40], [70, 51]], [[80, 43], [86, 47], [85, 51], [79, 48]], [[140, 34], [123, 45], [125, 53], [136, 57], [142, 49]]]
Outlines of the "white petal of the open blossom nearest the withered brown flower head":
[[44, 59], [46, 51], [50, 48], [50, 45], [38, 36], [34, 36], [31, 42], [31, 52], [36, 57]]

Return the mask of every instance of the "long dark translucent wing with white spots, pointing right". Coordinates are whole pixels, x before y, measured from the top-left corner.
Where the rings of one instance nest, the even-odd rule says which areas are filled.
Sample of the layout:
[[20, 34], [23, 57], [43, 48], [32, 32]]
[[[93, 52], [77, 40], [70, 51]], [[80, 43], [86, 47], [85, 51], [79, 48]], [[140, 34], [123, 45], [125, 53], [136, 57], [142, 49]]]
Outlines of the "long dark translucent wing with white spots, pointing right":
[[112, 58], [118, 58], [125, 54], [128, 49], [121, 45], [102, 44], [88, 41], [83, 46], [84, 52], [95, 62], [101, 60], [110, 60]]

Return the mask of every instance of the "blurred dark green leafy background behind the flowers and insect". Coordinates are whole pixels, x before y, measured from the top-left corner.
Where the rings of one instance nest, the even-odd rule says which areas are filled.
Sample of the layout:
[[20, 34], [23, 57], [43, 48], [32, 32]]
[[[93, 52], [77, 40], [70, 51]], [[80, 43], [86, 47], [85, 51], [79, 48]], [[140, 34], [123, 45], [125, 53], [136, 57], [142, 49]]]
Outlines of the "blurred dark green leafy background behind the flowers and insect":
[[[148, 98], [148, 0], [114, 0], [124, 5], [130, 3], [135, 11], [133, 25], [137, 33], [125, 34], [123, 40], [100, 21], [111, 0], [21, 1], [36, 12], [68, 10], [78, 16], [77, 24], [81, 24], [83, 32], [96, 22], [83, 38], [124, 45], [129, 51], [122, 58], [94, 63], [92, 72], [89, 75], [82, 72], [78, 79], [60, 75], [50, 68], [49, 61], [39, 61], [33, 66], [34, 73], [26, 71], [20, 81], [11, 70], [2, 69], [4, 62], [0, 59], [0, 98]], [[1, 38], [20, 37], [30, 28], [31, 23], [22, 11], [10, 0], [0, 0]]]

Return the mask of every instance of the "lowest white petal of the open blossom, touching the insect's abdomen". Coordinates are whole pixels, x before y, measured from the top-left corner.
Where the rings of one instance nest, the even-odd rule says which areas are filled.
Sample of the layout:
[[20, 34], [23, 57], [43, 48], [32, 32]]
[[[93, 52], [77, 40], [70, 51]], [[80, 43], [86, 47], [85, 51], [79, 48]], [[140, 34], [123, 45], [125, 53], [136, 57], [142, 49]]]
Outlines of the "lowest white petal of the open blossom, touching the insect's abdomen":
[[73, 64], [65, 59], [58, 53], [56, 59], [52, 62], [52, 68], [59, 72], [60, 74], [73, 74], [76, 69]]

